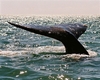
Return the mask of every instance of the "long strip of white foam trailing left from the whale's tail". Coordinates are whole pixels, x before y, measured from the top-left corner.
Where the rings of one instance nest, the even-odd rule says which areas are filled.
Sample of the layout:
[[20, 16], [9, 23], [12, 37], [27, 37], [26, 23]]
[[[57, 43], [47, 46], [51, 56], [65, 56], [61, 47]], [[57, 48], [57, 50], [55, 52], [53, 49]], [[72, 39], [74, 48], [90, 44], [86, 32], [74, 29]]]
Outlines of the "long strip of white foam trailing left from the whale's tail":
[[24, 54], [39, 54], [42, 52], [65, 52], [64, 47], [60, 46], [42, 46], [36, 48], [24, 48], [21, 51], [2, 51], [0, 50], [1, 56], [19, 56]]

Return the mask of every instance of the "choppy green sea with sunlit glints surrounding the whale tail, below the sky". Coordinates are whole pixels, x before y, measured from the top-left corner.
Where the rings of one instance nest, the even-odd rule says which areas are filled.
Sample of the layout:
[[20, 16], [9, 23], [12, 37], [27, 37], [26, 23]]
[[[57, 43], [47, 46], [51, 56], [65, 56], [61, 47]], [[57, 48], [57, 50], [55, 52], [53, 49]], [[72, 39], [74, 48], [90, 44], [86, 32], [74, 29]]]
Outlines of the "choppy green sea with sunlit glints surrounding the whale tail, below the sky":
[[[63, 55], [61, 42], [18, 29], [7, 21], [24, 25], [85, 24], [88, 29], [79, 41], [97, 55], [68, 58]], [[100, 80], [100, 17], [0, 16], [0, 80]]]

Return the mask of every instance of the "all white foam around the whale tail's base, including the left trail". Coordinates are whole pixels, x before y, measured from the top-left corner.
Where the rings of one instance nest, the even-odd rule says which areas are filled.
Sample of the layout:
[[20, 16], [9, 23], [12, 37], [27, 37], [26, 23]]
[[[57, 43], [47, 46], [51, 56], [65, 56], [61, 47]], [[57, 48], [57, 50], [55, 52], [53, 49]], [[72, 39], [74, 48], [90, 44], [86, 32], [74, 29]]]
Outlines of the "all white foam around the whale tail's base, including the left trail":
[[[24, 54], [39, 54], [42, 52], [49, 52], [49, 53], [65, 53], [64, 46], [42, 46], [36, 48], [24, 48], [22, 51], [0, 51], [1, 56], [18, 56]], [[74, 58], [80, 59], [82, 57], [95, 57], [97, 53], [91, 50], [88, 50], [89, 55], [85, 54], [66, 54], [64, 57], [67, 58]]]

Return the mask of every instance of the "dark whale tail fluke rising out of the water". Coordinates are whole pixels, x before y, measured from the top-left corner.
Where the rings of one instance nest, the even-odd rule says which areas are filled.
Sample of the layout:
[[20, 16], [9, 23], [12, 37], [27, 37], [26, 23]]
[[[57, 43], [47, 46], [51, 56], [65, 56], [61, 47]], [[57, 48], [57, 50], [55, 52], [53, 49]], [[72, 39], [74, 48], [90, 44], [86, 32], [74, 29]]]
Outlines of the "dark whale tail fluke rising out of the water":
[[87, 29], [86, 25], [82, 24], [59, 24], [53, 26], [41, 25], [19, 25], [12, 22], [9, 24], [36, 33], [57, 39], [63, 43], [66, 49], [66, 54], [86, 54], [89, 55], [82, 44], [77, 40]]

